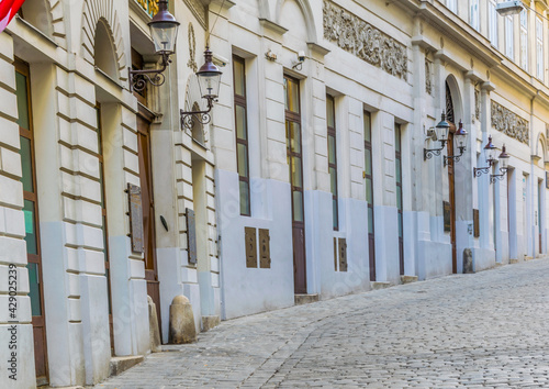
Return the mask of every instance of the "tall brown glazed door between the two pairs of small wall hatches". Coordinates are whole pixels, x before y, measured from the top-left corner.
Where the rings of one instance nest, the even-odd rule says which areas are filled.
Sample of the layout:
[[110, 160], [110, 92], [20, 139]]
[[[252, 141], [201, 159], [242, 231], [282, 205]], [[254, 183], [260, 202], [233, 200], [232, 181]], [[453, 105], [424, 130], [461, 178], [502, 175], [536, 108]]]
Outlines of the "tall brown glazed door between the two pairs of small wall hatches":
[[287, 157], [292, 199], [292, 243], [294, 292], [305, 294], [305, 210], [303, 201], [303, 148], [301, 142], [300, 85], [284, 76]]

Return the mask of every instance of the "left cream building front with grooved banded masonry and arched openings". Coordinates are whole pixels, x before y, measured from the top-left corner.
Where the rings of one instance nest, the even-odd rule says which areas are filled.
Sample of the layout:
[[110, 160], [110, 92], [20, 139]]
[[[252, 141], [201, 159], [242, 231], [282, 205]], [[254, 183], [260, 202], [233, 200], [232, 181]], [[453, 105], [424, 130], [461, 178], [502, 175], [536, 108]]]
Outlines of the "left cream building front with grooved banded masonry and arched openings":
[[27, 0], [0, 34], [2, 388], [93, 385], [112, 358], [146, 355], [147, 296], [163, 343], [176, 296], [197, 331], [219, 322], [214, 157], [208, 126], [181, 131], [179, 113], [200, 103], [209, 8], [169, 2], [181, 26], [166, 82], [132, 91], [128, 69], [160, 67], [157, 10]]

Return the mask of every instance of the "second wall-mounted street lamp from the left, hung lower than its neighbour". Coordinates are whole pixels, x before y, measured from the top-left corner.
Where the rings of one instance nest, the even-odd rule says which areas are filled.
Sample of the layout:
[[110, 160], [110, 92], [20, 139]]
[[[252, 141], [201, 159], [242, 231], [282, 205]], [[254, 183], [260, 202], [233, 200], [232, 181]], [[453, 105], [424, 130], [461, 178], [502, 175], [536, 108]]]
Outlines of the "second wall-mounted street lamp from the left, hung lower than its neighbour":
[[213, 103], [217, 101], [217, 97], [220, 96], [222, 75], [222, 71], [213, 64], [212, 58], [213, 54], [206, 46], [204, 52], [204, 65], [202, 65], [199, 71], [197, 71], [200, 93], [202, 99], [206, 99], [208, 109], [204, 111], [181, 110], [181, 129], [192, 130], [194, 121], [198, 121], [201, 124], [210, 123], [210, 111], [213, 108]]

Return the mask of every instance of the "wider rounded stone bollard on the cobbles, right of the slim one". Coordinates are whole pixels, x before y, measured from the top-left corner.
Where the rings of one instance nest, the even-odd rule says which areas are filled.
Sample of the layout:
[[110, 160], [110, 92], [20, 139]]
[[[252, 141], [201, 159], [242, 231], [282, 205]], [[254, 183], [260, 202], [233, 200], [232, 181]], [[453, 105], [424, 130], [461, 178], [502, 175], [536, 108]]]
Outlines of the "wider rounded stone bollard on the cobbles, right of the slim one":
[[176, 296], [171, 301], [169, 341], [171, 344], [197, 342], [192, 305], [184, 296]]

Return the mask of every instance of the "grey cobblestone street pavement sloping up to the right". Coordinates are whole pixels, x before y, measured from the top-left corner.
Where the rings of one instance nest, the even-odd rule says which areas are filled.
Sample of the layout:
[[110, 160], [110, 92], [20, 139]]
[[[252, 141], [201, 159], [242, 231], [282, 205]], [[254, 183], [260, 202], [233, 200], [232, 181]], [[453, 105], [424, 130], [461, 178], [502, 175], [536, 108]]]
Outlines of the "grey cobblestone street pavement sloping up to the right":
[[222, 322], [97, 388], [549, 388], [549, 260]]

